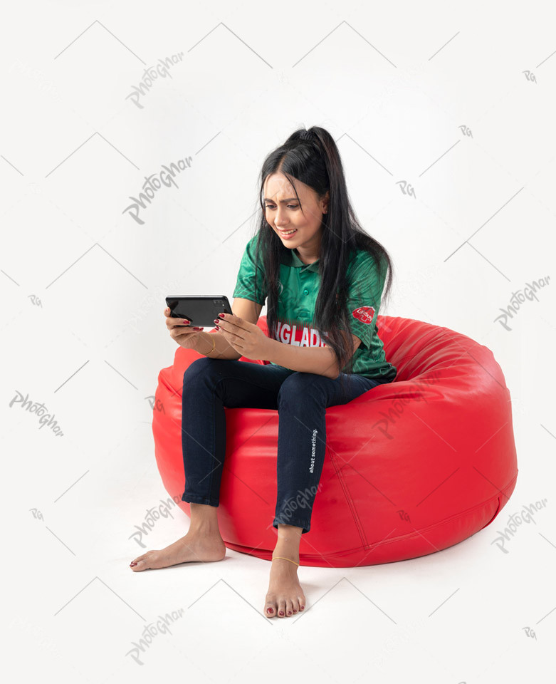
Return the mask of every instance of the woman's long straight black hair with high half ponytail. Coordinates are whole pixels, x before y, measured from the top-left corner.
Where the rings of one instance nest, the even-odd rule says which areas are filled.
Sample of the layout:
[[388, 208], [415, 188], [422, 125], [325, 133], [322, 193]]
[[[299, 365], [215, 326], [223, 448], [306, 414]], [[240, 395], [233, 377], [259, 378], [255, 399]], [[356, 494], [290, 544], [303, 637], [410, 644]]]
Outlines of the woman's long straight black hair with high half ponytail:
[[[339, 370], [352, 373], [351, 323], [346, 310], [349, 287], [346, 277], [347, 266], [357, 249], [369, 252], [379, 273], [382, 275], [388, 271], [382, 297], [384, 302], [392, 285], [392, 259], [382, 244], [364, 231], [355, 216], [335, 140], [325, 128], [299, 128], [283, 145], [266, 157], [261, 169], [259, 202], [262, 214], [256, 240], [256, 264], [263, 264], [268, 296], [266, 321], [268, 335], [271, 338], [278, 338], [280, 256], [288, 251], [288, 247], [283, 245], [280, 237], [266, 220], [263, 187], [268, 176], [279, 172], [293, 185], [298, 201], [298, 192], [292, 179], [300, 180], [313, 188], [318, 199], [324, 198], [327, 192], [330, 193], [327, 213], [322, 214], [322, 237], [318, 255], [320, 288], [312, 327], [319, 331], [326, 346], [332, 349]], [[300, 201], [299, 204], [301, 206]], [[348, 347], [340, 328], [349, 333]], [[325, 333], [328, 333], [327, 336]]]

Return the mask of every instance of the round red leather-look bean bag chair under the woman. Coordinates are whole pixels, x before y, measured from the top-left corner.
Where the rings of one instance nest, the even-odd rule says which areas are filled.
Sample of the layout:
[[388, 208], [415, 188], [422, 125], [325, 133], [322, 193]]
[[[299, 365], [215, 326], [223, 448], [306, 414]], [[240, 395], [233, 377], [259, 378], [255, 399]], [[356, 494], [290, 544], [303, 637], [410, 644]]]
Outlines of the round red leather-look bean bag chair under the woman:
[[[258, 326], [268, 335], [266, 316]], [[378, 316], [377, 326], [397, 378], [327, 408], [301, 565], [374, 565], [441, 551], [493, 522], [515, 487], [510, 391], [493, 353], [423, 321]], [[188, 515], [182, 383], [199, 356], [178, 347], [174, 365], [160, 371], [152, 422], [162, 482]], [[220, 531], [229, 549], [263, 559], [276, 545], [277, 448], [277, 410], [226, 408]]]

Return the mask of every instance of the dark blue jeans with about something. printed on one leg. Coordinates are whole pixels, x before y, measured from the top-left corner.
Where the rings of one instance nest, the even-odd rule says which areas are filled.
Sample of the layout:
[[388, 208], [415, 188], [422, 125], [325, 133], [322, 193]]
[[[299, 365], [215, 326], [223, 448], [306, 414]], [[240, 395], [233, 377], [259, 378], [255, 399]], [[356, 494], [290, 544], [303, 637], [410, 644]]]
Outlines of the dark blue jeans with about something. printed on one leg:
[[[303, 527], [311, 512], [325, 459], [328, 406], [346, 404], [379, 385], [378, 380], [342, 373], [335, 380], [316, 373], [204, 356], [184, 373], [182, 501], [219, 505], [226, 452], [227, 408], [278, 410], [278, 497], [273, 527]], [[301, 501], [300, 501], [301, 497]], [[295, 508], [293, 504], [295, 502]]]

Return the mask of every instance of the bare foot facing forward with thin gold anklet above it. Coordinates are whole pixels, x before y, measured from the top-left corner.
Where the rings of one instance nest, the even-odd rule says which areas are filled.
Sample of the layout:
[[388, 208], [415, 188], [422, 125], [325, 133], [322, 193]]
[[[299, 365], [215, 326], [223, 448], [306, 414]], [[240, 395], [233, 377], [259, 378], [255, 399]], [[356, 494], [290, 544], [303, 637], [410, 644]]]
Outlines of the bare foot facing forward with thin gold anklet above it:
[[[276, 556], [281, 556], [276, 553]], [[298, 556], [283, 554], [299, 562]], [[276, 558], [271, 564], [271, 578], [265, 598], [264, 614], [267, 618], [295, 615], [305, 610], [305, 594], [298, 580], [298, 566], [283, 558]]]

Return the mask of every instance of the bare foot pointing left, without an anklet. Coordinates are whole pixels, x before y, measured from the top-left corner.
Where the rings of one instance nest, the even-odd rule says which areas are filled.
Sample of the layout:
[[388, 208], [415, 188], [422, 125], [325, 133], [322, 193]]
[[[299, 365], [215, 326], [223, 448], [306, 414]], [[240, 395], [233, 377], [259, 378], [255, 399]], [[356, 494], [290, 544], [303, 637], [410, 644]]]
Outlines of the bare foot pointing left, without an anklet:
[[147, 551], [146, 554], [137, 556], [130, 563], [130, 568], [135, 572], [157, 570], [188, 561], [221, 561], [224, 556], [226, 546], [220, 534], [207, 535], [206, 532], [189, 530], [185, 537], [174, 541], [174, 544], [166, 546], [162, 551]]

